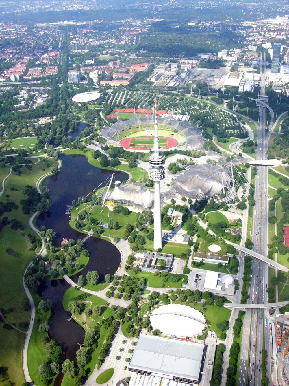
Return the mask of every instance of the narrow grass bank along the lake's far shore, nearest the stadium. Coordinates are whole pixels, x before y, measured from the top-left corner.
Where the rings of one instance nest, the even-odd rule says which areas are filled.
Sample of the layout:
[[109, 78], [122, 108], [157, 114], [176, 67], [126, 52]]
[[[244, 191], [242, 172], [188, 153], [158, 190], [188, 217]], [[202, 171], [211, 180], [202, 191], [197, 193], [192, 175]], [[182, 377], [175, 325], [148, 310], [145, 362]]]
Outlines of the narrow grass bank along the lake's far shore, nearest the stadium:
[[[114, 170], [114, 171], [124, 171], [126, 173], [130, 173], [131, 174], [131, 178], [134, 180], [134, 181], [139, 181], [141, 179], [144, 179], [148, 173], [146, 170], [144, 170], [143, 168], [140, 168], [139, 166], [137, 166], [136, 168], [132, 168], [130, 169], [128, 167], [128, 164], [120, 164], [118, 165], [116, 168], [111, 168], [110, 166], [107, 166], [106, 168], [103, 168], [99, 162], [98, 159], [95, 159], [93, 158], [93, 150], [92, 149], [84, 149], [84, 150], [78, 150], [78, 149], [72, 149], [72, 150], [64, 150], [63, 151], [63, 154], [80, 154], [80, 155], [84, 155], [87, 157], [87, 161], [92, 165], [92, 166], [95, 166], [96, 168], [100, 168], [100, 169], [108, 169], [108, 170]], [[129, 176], [128, 176], [129, 178]]]

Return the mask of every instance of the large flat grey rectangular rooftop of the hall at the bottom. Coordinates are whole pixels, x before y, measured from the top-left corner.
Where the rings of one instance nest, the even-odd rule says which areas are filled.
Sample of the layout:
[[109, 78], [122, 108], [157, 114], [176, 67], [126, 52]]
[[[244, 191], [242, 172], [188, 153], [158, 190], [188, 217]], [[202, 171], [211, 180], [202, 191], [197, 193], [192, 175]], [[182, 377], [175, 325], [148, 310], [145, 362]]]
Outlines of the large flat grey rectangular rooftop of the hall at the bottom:
[[140, 335], [129, 368], [198, 379], [203, 350], [198, 343]]

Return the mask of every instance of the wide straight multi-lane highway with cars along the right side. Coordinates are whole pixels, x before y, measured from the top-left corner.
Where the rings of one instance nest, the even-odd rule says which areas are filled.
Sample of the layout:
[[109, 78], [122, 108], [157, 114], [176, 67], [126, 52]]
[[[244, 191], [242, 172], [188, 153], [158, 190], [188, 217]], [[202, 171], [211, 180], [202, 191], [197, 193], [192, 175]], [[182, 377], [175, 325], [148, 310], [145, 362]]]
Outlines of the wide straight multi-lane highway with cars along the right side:
[[[260, 69], [262, 68], [262, 60], [260, 60]], [[265, 76], [262, 71], [261, 75], [261, 95], [265, 95]], [[267, 146], [265, 133], [265, 109], [264, 105], [260, 105], [260, 122], [257, 137], [257, 159], [267, 158]], [[268, 244], [268, 169], [267, 166], [258, 166], [257, 175], [255, 178], [255, 207], [253, 209], [253, 234], [252, 241], [254, 243], [252, 250], [262, 256], [267, 256]], [[268, 303], [267, 299], [267, 284], [268, 284], [268, 265], [266, 262], [252, 257], [252, 275], [249, 287], [249, 303]], [[264, 318], [269, 319], [267, 308], [258, 310], [247, 310], [244, 318], [243, 337], [240, 356], [240, 370], [238, 377], [238, 386], [252, 384], [259, 386], [261, 384], [262, 372], [259, 371], [260, 363], [262, 362], [263, 349], [263, 326]], [[269, 328], [265, 331], [265, 349], [269, 350]], [[258, 366], [258, 369], [257, 369]], [[269, 365], [267, 366], [267, 376], [270, 384], [271, 372]]]

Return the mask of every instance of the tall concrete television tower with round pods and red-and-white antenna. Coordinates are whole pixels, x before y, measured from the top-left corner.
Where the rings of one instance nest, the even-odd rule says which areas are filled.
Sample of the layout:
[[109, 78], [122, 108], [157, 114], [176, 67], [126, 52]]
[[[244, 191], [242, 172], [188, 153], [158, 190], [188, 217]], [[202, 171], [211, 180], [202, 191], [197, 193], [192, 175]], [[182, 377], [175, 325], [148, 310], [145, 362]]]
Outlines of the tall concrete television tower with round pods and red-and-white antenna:
[[155, 181], [155, 210], [154, 210], [154, 230], [153, 230], [153, 249], [163, 248], [161, 238], [161, 193], [160, 180], [165, 178], [165, 156], [160, 154], [161, 149], [158, 146], [158, 119], [155, 100], [155, 142], [151, 148], [151, 154], [148, 157], [150, 163], [150, 180]]

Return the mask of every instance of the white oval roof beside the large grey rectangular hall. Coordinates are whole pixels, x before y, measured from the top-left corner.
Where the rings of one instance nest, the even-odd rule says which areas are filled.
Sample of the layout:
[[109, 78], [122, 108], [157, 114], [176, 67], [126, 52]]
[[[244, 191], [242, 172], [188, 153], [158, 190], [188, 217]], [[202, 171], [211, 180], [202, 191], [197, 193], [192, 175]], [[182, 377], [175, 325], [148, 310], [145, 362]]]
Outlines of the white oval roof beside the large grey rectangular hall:
[[180, 337], [198, 335], [206, 326], [201, 312], [183, 304], [168, 304], [156, 308], [151, 313], [150, 322], [154, 329]]

